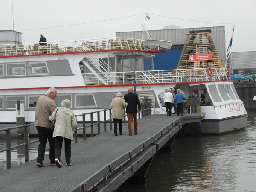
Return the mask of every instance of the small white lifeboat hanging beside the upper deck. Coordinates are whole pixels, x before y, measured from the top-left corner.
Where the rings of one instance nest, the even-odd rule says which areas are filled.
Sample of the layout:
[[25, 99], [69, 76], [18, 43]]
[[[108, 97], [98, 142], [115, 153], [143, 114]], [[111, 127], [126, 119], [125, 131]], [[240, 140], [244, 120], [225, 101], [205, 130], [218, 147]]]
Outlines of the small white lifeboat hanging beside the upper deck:
[[166, 51], [172, 47], [172, 41], [145, 40], [143, 43], [145, 44], [145, 47], [151, 50]]

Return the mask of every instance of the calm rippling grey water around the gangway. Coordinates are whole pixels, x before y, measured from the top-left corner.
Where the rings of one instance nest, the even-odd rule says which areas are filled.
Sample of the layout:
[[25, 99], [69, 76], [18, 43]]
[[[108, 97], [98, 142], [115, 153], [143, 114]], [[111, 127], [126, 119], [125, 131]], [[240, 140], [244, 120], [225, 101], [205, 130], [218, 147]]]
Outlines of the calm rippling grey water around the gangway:
[[[117, 192], [256, 192], [256, 112], [248, 114], [245, 131], [176, 138], [172, 153], [155, 155], [146, 186], [124, 186]], [[37, 157], [38, 143], [32, 145], [30, 160]], [[5, 158], [0, 153], [0, 172], [6, 169]], [[12, 152], [12, 166], [24, 161], [23, 149]]]

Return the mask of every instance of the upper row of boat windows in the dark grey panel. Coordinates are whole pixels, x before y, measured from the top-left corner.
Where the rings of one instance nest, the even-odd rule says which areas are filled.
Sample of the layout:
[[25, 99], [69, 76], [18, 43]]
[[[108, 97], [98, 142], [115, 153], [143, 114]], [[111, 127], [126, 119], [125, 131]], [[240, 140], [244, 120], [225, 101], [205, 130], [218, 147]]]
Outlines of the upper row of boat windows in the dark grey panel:
[[[28, 70], [26, 70], [28, 69]], [[0, 76], [26, 76], [26, 75], [46, 75], [49, 70], [46, 62], [9, 63], [4, 66], [0, 64]]]

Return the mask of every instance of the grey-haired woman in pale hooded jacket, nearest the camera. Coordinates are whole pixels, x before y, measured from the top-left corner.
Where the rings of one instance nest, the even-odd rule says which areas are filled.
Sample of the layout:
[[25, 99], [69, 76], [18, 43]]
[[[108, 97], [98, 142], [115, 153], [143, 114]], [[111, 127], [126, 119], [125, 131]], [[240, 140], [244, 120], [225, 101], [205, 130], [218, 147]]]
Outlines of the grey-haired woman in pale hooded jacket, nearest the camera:
[[[55, 163], [61, 168], [61, 148], [63, 138], [65, 141], [65, 158], [67, 166], [71, 166], [71, 141], [73, 140], [73, 130], [76, 128], [75, 113], [70, 110], [71, 102], [65, 99], [61, 102], [61, 108], [55, 109], [49, 120], [55, 122], [53, 136], [55, 140]], [[57, 111], [58, 110], [58, 111]]]

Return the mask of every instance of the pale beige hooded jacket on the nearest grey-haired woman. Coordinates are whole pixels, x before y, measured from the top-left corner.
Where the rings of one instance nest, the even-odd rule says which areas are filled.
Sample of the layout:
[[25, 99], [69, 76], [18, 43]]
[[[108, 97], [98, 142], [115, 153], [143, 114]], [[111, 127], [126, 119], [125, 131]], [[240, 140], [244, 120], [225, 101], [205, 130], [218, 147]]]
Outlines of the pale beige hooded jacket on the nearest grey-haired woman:
[[[56, 111], [57, 109], [49, 117], [51, 122], [54, 122]], [[76, 125], [76, 116], [72, 110], [69, 108], [58, 108], [52, 137], [61, 136], [73, 140], [73, 131]]]

